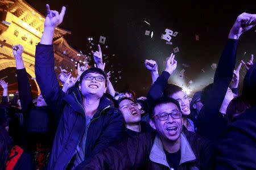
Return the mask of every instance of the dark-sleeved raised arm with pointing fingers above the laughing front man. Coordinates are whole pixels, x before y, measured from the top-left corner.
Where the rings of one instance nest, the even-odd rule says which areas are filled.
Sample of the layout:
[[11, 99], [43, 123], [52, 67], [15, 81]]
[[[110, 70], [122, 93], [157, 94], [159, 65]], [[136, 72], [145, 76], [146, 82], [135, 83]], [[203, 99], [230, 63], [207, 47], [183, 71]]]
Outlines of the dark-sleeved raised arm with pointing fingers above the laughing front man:
[[175, 58], [175, 55], [171, 54], [171, 56], [166, 61], [166, 69], [156, 79], [156, 81], [152, 84], [150, 90], [148, 91], [148, 94], [147, 94], [148, 105], [151, 105], [156, 99], [162, 96], [164, 88], [167, 86], [168, 78], [177, 67], [177, 61], [174, 58]]

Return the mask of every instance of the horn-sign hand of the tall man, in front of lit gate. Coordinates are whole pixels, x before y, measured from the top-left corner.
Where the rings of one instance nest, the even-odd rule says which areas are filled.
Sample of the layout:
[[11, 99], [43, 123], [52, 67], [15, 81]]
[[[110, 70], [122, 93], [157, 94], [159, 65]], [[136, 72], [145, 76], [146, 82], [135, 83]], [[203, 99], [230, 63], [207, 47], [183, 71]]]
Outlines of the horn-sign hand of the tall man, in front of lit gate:
[[57, 25], [63, 22], [63, 18], [65, 15], [66, 7], [62, 7], [60, 14], [58, 11], [51, 10], [49, 5], [46, 5], [46, 20], [44, 21], [44, 27], [52, 27], [55, 28]]

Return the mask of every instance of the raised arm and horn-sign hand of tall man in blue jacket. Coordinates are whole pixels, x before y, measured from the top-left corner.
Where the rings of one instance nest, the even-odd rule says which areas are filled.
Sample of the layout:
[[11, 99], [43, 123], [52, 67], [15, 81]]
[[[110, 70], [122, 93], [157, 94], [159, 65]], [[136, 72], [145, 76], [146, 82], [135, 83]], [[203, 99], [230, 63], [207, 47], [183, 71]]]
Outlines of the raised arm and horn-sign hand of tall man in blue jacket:
[[49, 107], [59, 116], [60, 106], [65, 93], [61, 90], [54, 71], [54, 51], [52, 46], [54, 29], [63, 21], [65, 7], [59, 14], [46, 5], [47, 16], [44, 22], [44, 32], [40, 44], [36, 46], [35, 73], [43, 98]]

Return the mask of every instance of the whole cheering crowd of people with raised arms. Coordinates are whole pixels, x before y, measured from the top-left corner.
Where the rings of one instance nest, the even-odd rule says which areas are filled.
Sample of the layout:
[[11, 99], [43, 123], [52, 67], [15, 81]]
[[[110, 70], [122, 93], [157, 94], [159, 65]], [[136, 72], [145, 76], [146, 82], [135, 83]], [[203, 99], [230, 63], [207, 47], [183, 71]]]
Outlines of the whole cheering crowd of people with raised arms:
[[[174, 54], [160, 75], [157, 63], [146, 59], [152, 77], [146, 97], [114, 90], [100, 45], [92, 52], [94, 67], [78, 64], [75, 77], [60, 68], [56, 76], [53, 33], [66, 8], [46, 9], [35, 53], [42, 94], [35, 103], [22, 45], [13, 46], [18, 92], [11, 101], [8, 83], [0, 80], [0, 170], [256, 169], [254, 56], [235, 70], [238, 40], [256, 25], [256, 14], [237, 17], [213, 83], [189, 100], [181, 87], [168, 84], [178, 64]], [[238, 94], [242, 66], [247, 73]]]

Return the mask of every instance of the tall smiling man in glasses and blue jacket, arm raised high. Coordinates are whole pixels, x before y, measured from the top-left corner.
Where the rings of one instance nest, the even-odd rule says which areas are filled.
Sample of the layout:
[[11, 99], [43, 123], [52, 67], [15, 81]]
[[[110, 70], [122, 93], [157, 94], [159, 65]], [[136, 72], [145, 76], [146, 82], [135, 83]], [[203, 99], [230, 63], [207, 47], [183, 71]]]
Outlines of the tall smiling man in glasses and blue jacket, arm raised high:
[[106, 75], [90, 68], [80, 76], [79, 86], [69, 94], [59, 86], [54, 70], [53, 33], [65, 14], [47, 8], [44, 32], [36, 45], [35, 73], [44, 100], [59, 124], [46, 169], [75, 169], [112, 142], [122, 138], [123, 118], [112, 102], [102, 97]]

